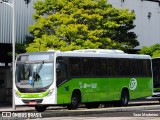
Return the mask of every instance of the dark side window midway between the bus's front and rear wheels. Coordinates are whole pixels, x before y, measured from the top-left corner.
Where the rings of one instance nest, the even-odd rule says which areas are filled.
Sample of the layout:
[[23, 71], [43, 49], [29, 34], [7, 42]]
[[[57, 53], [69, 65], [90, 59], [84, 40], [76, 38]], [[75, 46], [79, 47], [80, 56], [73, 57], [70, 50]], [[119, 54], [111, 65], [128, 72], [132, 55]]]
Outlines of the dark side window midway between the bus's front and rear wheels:
[[95, 73], [96, 76], [106, 76], [106, 59], [95, 59]]

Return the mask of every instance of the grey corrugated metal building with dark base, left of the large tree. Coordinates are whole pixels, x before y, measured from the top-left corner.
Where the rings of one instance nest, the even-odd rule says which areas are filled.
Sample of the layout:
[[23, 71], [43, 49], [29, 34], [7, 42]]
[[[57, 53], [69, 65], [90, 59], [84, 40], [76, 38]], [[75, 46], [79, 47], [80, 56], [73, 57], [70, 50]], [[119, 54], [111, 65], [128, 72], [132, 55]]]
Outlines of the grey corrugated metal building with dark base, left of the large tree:
[[[26, 35], [29, 35], [28, 26], [34, 22], [32, 15], [35, 1], [14, 0], [16, 43], [23, 43]], [[12, 2], [8, 1], [9, 4]], [[8, 56], [8, 52], [12, 51], [12, 10], [11, 6], [0, 3], [0, 105], [12, 102], [12, 56]]]

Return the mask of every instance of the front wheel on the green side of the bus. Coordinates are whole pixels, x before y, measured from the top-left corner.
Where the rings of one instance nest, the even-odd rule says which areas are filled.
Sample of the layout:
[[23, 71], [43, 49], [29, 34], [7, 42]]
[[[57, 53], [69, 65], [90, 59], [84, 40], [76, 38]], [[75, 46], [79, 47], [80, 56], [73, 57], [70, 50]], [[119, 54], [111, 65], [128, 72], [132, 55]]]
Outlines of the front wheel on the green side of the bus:
[[67, 106], [69, 110], [77, 109], [81, 102], [81, 93], [80, 91], [74, 91], [71, 97], [71, 103]]

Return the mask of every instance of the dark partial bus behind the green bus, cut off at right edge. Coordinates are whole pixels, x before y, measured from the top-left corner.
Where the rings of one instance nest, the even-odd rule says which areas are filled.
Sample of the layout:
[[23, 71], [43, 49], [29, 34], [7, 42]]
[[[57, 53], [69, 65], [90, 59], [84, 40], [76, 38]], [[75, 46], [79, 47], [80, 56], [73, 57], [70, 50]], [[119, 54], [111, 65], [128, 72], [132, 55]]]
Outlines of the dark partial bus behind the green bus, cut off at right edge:
[[153, 69], [153, 96], [152, 99], [158, 99], [160, 102], [160, 58], [152, 58]]

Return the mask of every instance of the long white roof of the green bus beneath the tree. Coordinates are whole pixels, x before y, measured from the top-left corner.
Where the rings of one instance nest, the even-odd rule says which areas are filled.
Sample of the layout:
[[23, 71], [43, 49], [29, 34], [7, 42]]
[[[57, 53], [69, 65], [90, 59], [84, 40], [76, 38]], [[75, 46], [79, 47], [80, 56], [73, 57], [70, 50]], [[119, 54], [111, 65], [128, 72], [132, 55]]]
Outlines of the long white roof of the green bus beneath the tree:
[[151, 59], [149, 55], [141, 54], [128, 54], [121, 50], [111, 50], [111, 49], [83, 49], [83, 50], [73, 50], [73, 51], [55, 51], [49, 50], [48, 52], [32, 52], [24, 53], [20, 55], [34, 55], [43, 53], [54, 53], [56, 56], [68, 56], [68, 57], [106, 57], [106, 58], [136, 58], [136, 59]]

